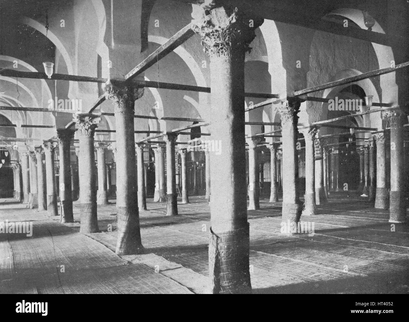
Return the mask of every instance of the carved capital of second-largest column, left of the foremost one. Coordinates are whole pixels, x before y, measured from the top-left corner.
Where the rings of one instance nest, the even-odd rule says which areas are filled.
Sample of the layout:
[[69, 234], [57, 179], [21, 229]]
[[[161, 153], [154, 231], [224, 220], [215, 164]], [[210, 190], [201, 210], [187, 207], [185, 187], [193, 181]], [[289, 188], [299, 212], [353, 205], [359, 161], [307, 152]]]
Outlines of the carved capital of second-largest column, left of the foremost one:
[[144, 87], [109, 80], [105, 85], [105, 97], [114, 103], [115, 113], [135, 114], [135, 101], [144, 95]]

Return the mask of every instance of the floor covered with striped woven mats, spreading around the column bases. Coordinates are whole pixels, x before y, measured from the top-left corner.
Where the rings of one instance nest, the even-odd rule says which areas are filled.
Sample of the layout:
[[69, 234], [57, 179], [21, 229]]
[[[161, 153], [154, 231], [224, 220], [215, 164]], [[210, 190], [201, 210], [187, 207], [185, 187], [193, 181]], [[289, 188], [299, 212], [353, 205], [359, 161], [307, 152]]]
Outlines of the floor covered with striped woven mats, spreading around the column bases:
[[[209, 206], [148, 199], [140, 213], [145, 255], [115, 254], [115, 200], [98, 206], [101, 233], [79, 233], [46, 212], [0, 199], [0, 221], [32, 221], [33, 236], [0, 234], [0, 293], [208, 293]], [[301, 217], [314, 234], [287, 235], [281, 202], [248, 212], [253, 293], [408, 293], [409, 227], [388, 223], [366, 199], [331, 195], [319, 215]]]

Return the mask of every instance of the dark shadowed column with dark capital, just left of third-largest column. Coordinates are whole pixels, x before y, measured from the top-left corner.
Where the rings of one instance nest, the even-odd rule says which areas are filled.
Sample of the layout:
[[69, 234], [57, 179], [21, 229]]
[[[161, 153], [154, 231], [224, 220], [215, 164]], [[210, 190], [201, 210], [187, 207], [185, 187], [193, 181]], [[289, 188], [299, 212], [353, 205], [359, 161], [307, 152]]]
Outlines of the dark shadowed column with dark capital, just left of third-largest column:
[[71, 140], [75, 130], [57, 130], [58, 148], [60, 153], [60, 203], [61, 222], [74, 222], [72, 213], [72, 186], [71, 186]]

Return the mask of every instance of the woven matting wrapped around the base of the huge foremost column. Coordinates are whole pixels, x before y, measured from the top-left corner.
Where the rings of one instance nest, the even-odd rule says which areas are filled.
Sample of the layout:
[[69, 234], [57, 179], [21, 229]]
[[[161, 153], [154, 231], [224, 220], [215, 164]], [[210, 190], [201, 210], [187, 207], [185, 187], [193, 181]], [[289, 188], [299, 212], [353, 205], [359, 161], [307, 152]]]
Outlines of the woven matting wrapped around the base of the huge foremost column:
[[249, 223], [215, 234], [210, 227], [209, 277], [213, 294], [252, 293], [249, 272]]

